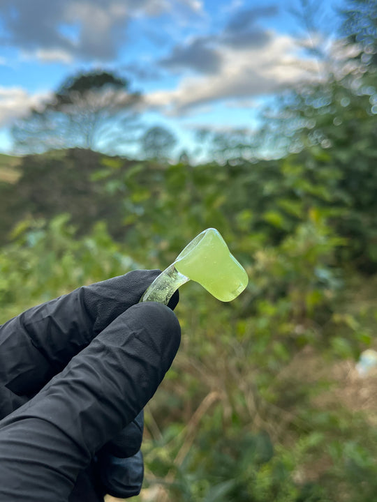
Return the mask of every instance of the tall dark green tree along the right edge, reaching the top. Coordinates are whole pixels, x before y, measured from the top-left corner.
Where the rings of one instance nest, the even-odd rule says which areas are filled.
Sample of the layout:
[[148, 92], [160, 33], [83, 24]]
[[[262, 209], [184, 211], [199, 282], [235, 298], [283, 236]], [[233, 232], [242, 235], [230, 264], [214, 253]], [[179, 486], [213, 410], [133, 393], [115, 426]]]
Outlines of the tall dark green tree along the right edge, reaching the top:
[[344, 239], [339, 263], [376, 273], [376, 1], [346, 6], [334, 71], [282, 92], [265, 114], [261, 137], [285, 158], [282, 185], [291, 183], [290, 201], [320, 207]]

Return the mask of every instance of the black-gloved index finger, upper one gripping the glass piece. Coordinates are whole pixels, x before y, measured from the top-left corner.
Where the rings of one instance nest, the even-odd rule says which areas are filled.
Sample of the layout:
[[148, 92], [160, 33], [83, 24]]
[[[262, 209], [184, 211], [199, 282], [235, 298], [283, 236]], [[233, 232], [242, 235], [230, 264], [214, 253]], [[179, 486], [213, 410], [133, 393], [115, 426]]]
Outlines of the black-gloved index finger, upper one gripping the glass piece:
[[132, 271], [80, 287], [1, 326], [0, 397], [3, 387], [16, 395], [38, 392], [119, 314], [138, 303], [159, 273]]

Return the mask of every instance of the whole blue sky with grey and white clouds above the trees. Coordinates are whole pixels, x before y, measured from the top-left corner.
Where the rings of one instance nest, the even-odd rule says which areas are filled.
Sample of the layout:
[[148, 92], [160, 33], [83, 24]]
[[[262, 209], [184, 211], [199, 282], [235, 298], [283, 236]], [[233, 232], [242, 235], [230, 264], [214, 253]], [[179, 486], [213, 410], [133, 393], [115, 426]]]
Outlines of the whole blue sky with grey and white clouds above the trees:
[[[330, 3], [309, 3], [314, 29], [334, 31]], [[0, 151], [17, 117], [93, 68], [141, 91], [145, 123], [173, 130], [179, 149], [195, 128], [252, 130], [268, 96], [316, 71], [292, 8], [300, 0], [0, 0]]]

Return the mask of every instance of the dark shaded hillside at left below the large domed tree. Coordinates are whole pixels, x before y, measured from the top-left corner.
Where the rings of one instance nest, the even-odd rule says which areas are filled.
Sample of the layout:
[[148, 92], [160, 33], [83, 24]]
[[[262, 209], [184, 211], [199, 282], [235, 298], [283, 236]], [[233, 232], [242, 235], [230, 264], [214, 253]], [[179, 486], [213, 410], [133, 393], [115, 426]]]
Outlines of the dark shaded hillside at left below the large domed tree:
[[[111, 158], [108, 158], [111, 162]], [[24, 218], [49, 220], [68, 213], [81, 231], [87, 231], [98, 219], [108, 222], [117, 236], [114, 219], [119, 206], [93, 176], [106, 164], [104, 155], [80, 149], [52, 151], [22, 158], [0, 157], [1, 243]], [[122, 169], [127, 165], [121, 161]]]

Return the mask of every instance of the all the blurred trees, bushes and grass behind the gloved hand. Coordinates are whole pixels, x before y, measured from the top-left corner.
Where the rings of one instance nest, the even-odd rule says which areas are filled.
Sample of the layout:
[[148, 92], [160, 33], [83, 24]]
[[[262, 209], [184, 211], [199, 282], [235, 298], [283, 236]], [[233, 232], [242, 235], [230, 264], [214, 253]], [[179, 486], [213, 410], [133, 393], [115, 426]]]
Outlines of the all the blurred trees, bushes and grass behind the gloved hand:
[[[23, 155], [0, 156], [1, 321], [164, 268], [207, 227], [249, 274], [230, 304], [181, 289], [140, 501], [376, 498], [377, 378], [355, 370], [377, 349], [376, 2], [342, 15], [341, 61], [316, 47], [325, 75], [282, 89], [253, 135], [199, 131], [211, 160], [172, 159], [173, 132], [140, 132], [140, 95], [121, 100], [127, 83], [105, 72], [68, 79], [15, 125]], [[91, 150], [114, 119], [138, 158]], [[260, 158], [266, 144], [280, 155]]]

